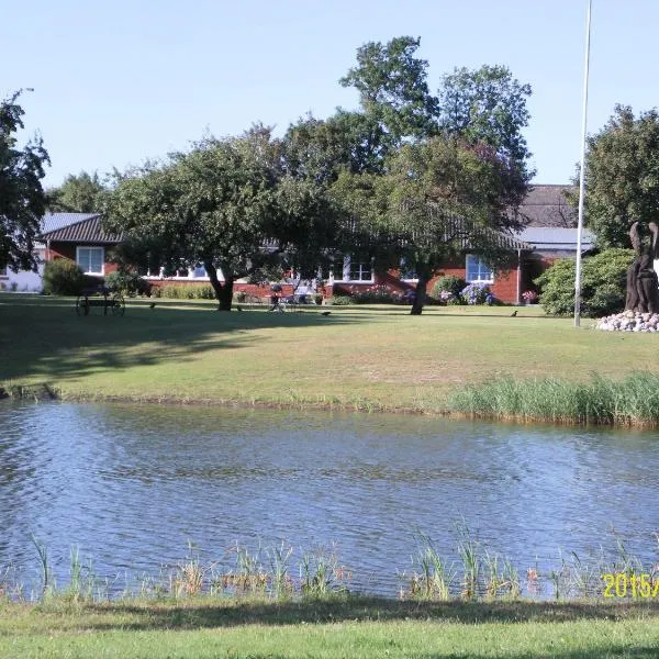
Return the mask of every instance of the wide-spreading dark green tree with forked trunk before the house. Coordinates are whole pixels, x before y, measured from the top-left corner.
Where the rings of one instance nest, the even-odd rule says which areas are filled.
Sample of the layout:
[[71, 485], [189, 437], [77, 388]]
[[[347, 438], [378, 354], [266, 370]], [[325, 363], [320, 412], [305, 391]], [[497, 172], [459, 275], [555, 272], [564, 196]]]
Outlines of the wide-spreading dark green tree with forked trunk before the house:
[[142, 254], [150, 245], [168, 264], [203, 264], [219, 310], [228, 311], [236, 279], [277, 265], [313, 276], [338, 235], [324, 189], [287, 175], [281, 163], [280, 143], [263, 126], [204, 139], [121, 177], [105, 223]]

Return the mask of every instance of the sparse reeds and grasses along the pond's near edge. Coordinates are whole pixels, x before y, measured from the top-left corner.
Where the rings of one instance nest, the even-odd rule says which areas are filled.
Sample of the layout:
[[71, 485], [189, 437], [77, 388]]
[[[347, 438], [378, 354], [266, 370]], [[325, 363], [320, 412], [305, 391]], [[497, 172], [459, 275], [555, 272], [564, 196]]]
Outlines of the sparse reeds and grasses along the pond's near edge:
[[[659, 596], [657, 561], [644, 565], [628, 552], [619, 538], [616, 539], [617, 551], [613, 557], [600, 550], [599, 556], [585, 560], [571, 551], [560, 554], [556, 563], [544, 571], [535, 565], [521, 573], [510, 558], [489, 548], [465, 522], [456, 524], [456, 536], [454, 558], [448, 559], [439, 554], [429, 536], [417, 534], [411, 570], [398, 573], [401, 584], [399, 599], [476, 602], [517, 600], [524, 593], [532, 599], [556, 601], [599, 600], [605, 596], [604, 574], [629, 578], [643, 574], [651, 588], [652, 597]], [[236, 544], [221, 559], [203, 563], [189, 545], [183, 560], [161, 566], [155, 576], [116, 576], [113, 579], [98, 577], [91, 560], [83, 562], [74, 547], [68, 583], [59, 587], [45, 546], [35, 539], [33, 544], [38, 557], [36, 581], [29, 588], [16, 579], [16, 569], [0, 566], [0, 601], [183, 601], [197, 596], [295, 601], [354, 594], [350, 591], [353, 571], [343, 563], [335, 547], [295, 552], [286, 544], [254, 550]], [[233, 557], [233, 567], [227, 567], [226, 559], [230, 557]], [[622, 597], [632, 596], [629, 589]]]

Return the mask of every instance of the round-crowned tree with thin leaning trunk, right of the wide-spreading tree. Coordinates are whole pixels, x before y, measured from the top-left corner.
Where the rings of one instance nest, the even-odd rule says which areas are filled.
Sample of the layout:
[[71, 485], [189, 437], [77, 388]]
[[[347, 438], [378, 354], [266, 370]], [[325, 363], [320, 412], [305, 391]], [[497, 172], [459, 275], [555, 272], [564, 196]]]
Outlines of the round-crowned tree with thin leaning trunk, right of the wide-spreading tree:
[[355, 247], [383, 266], [416, 273], [412, 314], [447, 259], [468, 247], [491, 264], [510, 253], [498, 232], [520, 228], [507, 209], [510, 163], [494, 148], [455, 136], [403, 145], [384, 175], [344, 174], [334, 191], [356, 221]]

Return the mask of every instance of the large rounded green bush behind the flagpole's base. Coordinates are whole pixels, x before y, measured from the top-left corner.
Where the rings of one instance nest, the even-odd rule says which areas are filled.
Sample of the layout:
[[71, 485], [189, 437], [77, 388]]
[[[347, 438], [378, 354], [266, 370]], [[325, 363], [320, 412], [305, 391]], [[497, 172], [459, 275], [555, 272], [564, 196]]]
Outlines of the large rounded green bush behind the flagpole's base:
[[[581, 313], [597, 317], [625, 308], [627, 269], [634, 260], [632, 249], [611, 248], [582, 261]], [[576, 265], [559, 259], [535, 283], [540, 287], [540, 303], [552, 315], [570, 315], [574, 311]]]

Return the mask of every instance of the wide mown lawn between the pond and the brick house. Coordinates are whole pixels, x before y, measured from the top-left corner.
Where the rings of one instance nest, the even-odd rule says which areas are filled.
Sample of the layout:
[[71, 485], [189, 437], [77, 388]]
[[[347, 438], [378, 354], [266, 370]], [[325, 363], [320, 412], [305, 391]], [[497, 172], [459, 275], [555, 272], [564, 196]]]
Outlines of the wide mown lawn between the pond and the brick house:
[[343, 405], [442, 412], [456, 384], [510, 373], [585, 380], [654, 367], [658, 337], [597, 332], [540, 308], [340, 306], [219, 313], [211, 302], [130, 302], [123, 317], [74, 300], [0, 295], [0, 383], [63, 398]]

